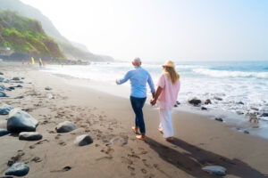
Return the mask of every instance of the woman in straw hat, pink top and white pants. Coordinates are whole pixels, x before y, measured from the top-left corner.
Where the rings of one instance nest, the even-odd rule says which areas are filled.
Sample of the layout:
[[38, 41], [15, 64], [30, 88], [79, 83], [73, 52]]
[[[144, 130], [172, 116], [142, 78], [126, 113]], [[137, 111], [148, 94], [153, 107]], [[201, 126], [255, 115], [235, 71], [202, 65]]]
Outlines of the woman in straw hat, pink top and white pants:
[[155, 97], [150, 101], [154, 106], [159, 107], [160, 125], [159, 131], [163, 133], [163, 137], [173, 140], [173, 128], [171, 111], [177, 101], [180, 91], [180, 75], [176, 72], [173, 61], [166, 61], [163, 64], [163, 74], [158, 80], [158, 87]]

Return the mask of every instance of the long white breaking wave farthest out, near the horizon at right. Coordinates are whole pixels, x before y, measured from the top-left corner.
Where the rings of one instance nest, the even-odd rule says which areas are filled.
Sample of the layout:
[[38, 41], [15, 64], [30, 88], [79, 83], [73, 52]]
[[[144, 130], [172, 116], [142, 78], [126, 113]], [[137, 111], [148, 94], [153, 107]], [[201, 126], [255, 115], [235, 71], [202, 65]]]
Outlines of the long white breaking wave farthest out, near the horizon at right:
[[197, 74], [202, 74], [209, 77], [256, 77], [268, 79], [268, 72], [243, 72], [215, 69], [193, 69], [193, 71]]

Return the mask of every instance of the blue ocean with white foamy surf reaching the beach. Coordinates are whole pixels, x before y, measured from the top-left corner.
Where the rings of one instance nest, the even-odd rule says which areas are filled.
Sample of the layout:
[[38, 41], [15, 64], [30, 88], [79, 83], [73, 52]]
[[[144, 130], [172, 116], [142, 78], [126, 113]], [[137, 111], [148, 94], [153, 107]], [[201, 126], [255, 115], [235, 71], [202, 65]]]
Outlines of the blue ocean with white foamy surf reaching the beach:
[[[142, 67], [151, 73], [155, 85], [163, 70], [162, 63], [142, 64]], [[214, 113], [212, 117], [236, 117], [237, 120], [245, 122], [249, 113], [255, 113], [263, 123], [259, 128], [268, 129], [268, 117], [264, 117], [264, 113], [268, 113], [268, 61], [175, 61], [175, 63], [181, 83], [178, 108]], [[47, 65], [43, 70], [116, 85], [115, 79], [123, 77], [130, 69], [133, 69], [130, 62], [92, 62], [87, 66]], [[124, 85], [130, 87], [129, 84]], [[212, 104], [204, 105], [210, 112], [189, 105], [188, 100], [193, 98], [200, 99], [203, 101], [202, 104], [206, 99], [210, 99]], [[230, 115], [217, 115], [219, 110]]]

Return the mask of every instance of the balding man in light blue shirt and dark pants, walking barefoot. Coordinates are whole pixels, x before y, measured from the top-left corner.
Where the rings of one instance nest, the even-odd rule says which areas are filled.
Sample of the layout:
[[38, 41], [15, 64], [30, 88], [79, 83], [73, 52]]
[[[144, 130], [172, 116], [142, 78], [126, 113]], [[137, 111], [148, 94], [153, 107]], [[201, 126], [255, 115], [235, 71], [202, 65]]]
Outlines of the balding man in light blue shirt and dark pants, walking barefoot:
[[146, 140], [146, 127], [144, 123], [144, 117], [142, 108], [147, 100], [147, 83], [150, 86], [151, 93], [153, 97], [155, 96], [155, 86], [151, 75], [146, 69], [141, 68], [141, 61], [139, 58], [135, 58], [132, 61], [132, 65], [135, 69], [127, 72], [127, 74], [121, 78], [116, 79], [116, 84], [121, 85], [130, 79], [131, 93], [130, 102], [132, 109], [135, 113], [135, 126], [132, 127], [135, 134], [138, 134], [138, 129], [140, 135], [136, 137], [140, 140]]

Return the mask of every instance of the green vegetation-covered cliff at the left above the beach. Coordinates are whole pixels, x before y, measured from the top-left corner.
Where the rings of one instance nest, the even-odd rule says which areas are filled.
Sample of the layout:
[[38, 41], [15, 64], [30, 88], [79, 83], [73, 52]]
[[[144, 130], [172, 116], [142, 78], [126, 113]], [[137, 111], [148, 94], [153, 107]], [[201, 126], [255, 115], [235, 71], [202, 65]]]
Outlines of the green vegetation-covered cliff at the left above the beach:
[[10, 47], [15, 52], [64, 57], [38, 20], [22, 17], [16, 12], [0, 12], [0, 46]]

